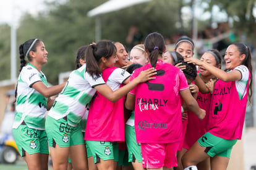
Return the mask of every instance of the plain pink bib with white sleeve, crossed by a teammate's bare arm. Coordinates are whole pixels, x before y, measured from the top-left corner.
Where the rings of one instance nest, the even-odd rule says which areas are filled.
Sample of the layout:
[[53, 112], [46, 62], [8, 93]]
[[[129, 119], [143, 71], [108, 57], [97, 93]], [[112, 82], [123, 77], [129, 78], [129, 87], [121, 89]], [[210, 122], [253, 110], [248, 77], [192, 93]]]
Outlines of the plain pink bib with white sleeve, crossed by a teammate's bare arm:
[[[112, 76], [114, 80], [117, 80], [113, 83], [115, 87], [118, 85], [116, 88], [119, 88], [122, 82], [130, 76], [128, 72], [117, 67], [105, 69], [102, 77], [108, 85], [111, 81], [109, 76], [113, 75], [113, 72], [116, 74]], [[124, 98], [113, 103], [96, 91], [90, 104], [85, 140], [124, 142]]]

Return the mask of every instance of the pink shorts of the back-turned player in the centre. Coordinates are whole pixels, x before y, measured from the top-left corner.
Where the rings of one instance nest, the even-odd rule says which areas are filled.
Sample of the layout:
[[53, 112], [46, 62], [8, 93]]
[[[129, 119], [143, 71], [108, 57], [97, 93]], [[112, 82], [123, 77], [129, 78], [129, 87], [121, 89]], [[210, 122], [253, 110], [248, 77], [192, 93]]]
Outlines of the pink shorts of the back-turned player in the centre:
[[176, 143], [141, 143], [143, 168], [172, 168], [177, 166]]

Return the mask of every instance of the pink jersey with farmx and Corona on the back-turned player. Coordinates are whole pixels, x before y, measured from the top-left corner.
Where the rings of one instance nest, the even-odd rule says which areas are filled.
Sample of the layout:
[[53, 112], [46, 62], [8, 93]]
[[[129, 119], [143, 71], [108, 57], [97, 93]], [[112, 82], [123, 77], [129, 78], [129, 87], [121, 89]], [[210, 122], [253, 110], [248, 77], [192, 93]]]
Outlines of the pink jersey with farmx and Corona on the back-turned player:
[[[147, 64], [136, 69], [130, 80]], [[137, 143], [174, 143], [182, 139], [181, 96], [179, 91], [189, 88], [185, 75], [177, 67], [158, 60], [155, 80], [140, 83], [135, 95], [135, 134]]]

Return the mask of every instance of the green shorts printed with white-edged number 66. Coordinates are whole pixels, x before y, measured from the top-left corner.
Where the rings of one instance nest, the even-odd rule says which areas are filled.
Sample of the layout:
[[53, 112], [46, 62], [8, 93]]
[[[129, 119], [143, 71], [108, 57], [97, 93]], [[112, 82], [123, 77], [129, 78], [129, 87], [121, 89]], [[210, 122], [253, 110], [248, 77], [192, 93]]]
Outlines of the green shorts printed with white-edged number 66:
[[84, 144], [81, 127], [72, 127], [67, 124], [65, 118], [56, 120], [51, 116], [46, 117], [45, 130], [49, 141], [49, 147], [70, 147]]

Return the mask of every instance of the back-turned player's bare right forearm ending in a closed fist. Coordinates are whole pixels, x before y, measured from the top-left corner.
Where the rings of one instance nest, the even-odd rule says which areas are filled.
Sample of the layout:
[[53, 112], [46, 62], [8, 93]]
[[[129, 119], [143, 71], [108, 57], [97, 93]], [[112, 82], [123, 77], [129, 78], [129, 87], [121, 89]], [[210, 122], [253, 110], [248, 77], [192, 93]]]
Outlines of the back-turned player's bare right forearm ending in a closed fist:
[[189, 110], [195, 113], [199, 119], [203, 119], [205, 117], [205, 110], [199, 108], [198, 103], [191, 95], [190, 90], [181, 90], [179, 91], [179, 93], [181, 94], [181, 97], [186, 103]]

